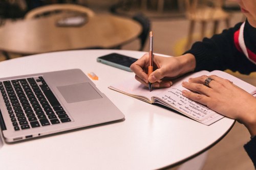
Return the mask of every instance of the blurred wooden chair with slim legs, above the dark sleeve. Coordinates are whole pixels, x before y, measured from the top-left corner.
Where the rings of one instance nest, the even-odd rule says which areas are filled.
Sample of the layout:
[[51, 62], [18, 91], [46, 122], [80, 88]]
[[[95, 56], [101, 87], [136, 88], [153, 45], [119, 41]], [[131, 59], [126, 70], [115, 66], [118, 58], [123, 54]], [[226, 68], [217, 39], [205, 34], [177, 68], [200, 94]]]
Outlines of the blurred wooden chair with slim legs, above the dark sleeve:
[[223, 0], [185, 0], [186, 17], [190, 21], [188, 38], [185, 49], [187, 50], [192, 42], [194, 27], [196, 22], [201, 23], [201, 35], [200, 38], [203, 39], [205, 36], [205, 29], [207, 22], [213, 22], [211, 33], [216, 34], [220, 21], [226, 22], [226, 27], [229, 27], [229, 13], [222, 9]]

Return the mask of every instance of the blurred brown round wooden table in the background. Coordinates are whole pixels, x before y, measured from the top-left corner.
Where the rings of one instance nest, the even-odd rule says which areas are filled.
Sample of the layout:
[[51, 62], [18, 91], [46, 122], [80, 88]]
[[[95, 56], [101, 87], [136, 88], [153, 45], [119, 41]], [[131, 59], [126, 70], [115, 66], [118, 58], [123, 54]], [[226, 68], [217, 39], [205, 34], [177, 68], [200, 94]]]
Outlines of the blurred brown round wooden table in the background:
[[141, 25], [114, 15], [96, 15], [81, 27], [57, 27], [58, 18], [20, 20], [0, 28], [0, 50], [39, 54], [84, 48], [112, 48], [138, 37]]

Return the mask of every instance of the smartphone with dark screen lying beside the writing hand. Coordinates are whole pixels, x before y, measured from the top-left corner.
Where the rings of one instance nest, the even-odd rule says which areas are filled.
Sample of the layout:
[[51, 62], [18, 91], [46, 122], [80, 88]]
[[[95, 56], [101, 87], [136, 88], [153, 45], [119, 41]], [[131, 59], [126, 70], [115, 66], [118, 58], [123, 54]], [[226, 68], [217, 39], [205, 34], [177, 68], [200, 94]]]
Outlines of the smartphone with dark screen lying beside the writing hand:
[[117, 53], [111, 53], [105, 56], [101, 56], [97, 58], [98, 62], [101, 62], [103, 64], [107, 64], [116, 68], [120, 68], [126, 71], [133, 72], [130, 68], [132, 63], [137, 61], [138, 59], [125, 56], [122, 54], [117, 54]]

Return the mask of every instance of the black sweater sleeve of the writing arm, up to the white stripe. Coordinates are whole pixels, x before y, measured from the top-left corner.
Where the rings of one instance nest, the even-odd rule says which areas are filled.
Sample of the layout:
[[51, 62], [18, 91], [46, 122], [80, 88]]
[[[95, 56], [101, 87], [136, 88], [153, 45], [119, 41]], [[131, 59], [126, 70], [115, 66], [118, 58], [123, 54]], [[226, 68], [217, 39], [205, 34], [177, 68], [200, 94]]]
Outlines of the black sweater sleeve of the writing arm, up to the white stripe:
[[196, 68], [199, 70], [225, 70], [239, 71], [242, 74], [250, 74], [256, 70], [255, 64], [239, 52], [234, 44], [234, 32], [239, 30], [242, 23], [233, 28], [224, 30], [221, 34], [204, 38], [203, 41], [195, 42], [186, 53], [193, 54], [196, 58]]

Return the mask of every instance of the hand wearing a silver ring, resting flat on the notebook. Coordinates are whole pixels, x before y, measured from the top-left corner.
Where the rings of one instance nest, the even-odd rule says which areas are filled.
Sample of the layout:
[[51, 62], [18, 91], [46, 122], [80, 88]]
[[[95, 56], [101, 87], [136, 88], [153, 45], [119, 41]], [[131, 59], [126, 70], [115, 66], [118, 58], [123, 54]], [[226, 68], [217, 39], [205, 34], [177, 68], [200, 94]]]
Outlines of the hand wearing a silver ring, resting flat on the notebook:
[[256, 98], [229, 80], [214, 75], [209, 77], [214, 79], [209, 87], [204, 85], [207, 76], [190, 78], [188, 82], [183, 82], [182, 86], [191, 91], [183, 90], [182, 94], [224, 116], [239, 120], [255, 136]]

